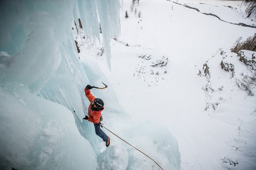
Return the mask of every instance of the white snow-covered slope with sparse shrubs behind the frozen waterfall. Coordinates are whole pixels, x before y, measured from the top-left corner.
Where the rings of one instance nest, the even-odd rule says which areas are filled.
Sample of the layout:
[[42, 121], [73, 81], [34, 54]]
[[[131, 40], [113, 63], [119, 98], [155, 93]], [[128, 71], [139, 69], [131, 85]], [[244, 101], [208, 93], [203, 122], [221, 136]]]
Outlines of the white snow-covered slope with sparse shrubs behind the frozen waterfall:
[[[81, 59], [98, 63], [136, 124], [168, 127], [181, 169], [255, 169], [255, 96], [236, 85], [251, 68], [230, 52], [236, 39], [254, 35], [255, 18], [245, 17], [241, 1], [140, 1], [133, 12], [131, 4], [124, 1], [121, 34], [111, 40], [111, 71], [102, 46], [80, 47]], [[167, 65], [152, 66], [158, 61]]]

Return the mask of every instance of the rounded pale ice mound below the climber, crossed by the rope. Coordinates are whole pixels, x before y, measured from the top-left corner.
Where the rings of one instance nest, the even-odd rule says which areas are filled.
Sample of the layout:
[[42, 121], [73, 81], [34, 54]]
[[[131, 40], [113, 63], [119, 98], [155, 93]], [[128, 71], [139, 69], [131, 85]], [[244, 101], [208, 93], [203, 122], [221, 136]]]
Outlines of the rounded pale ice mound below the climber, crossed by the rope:
[[127, 127], [118, 136], [122, 140], [111, 137], [118, 140], [118, 145], [98, 156], [101, 169], [160, 169], [158, 165], [163, 169], [180, 169], [179, 146], [166, 127], [146, 121]]

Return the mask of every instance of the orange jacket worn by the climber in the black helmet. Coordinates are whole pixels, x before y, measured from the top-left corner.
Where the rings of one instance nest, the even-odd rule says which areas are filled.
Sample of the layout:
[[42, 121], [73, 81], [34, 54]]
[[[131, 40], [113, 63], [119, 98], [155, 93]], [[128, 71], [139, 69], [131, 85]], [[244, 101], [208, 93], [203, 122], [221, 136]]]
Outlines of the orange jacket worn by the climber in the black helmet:
[[104, 110], [104, 107], [102, 108], [102, 110], [99, 110], [99, 111], [92, 110], [92, 101], [95, 100], [95, 97], [90, 93], [90, 90], [86, 88], [85, 88], [85, 95], [90, 102], [90, 105], [88, 108], [88, 117], [89, 117], [88, 121], [92, 123], [99, 123], [101, 121], [101, 111]]

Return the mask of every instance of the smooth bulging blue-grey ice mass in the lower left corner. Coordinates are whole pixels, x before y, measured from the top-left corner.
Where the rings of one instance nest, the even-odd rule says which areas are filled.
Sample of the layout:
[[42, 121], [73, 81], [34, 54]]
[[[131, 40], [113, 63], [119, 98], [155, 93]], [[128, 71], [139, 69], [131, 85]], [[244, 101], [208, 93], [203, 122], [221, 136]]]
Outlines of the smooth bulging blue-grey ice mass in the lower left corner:
[[96, 169], [70, 110], [15, 85], [0, 88], [0, 169]]

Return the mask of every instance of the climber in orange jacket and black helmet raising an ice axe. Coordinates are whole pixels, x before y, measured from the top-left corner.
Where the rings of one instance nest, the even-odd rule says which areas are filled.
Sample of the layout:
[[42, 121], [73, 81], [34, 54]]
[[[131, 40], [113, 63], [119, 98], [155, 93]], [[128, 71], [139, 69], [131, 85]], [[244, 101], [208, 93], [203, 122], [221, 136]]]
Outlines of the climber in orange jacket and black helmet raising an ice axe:
[[88, 120], [94, 124], [95, 133], [101, 137], [101, 139], [106, 142], [106, 146], [110, 146], [110, 137], [104, 133], [104, 131], [100, 128], [101, 123], [101, 111], [104, 110], [104, 102], [100, 98], [95, 98], [91, 93], [90, 89], [92, 89], [91, 85], [87, 85], [85, 88], [85, 95], [88, 98], [90, 105], [88, 108], [88, 116], [85, 116], [85, 120]]

